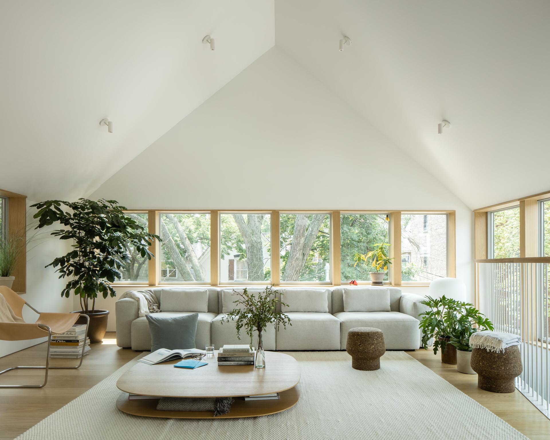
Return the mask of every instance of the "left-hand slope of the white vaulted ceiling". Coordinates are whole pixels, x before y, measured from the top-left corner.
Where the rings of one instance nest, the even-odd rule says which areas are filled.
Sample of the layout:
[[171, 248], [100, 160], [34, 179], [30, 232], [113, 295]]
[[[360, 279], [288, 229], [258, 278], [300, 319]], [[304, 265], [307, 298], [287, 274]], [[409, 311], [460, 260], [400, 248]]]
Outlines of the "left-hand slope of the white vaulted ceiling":
[[[4, 2], [0, 188], [31, 200], [89, 195], [274, 45], [273, 8], [273, 0]], [[207, 34], [215, 52], [201, 42]], [[136, 182], [151, 177], [143, 173]]]

